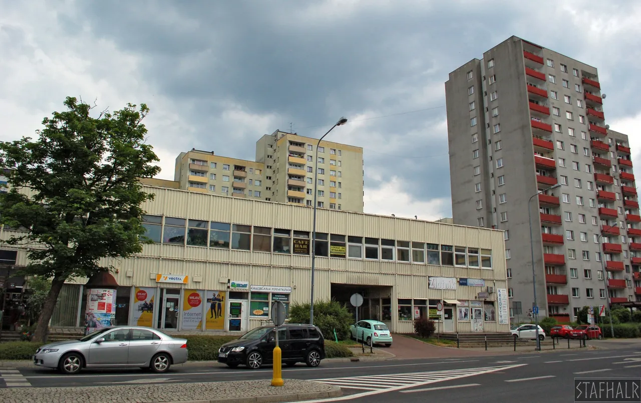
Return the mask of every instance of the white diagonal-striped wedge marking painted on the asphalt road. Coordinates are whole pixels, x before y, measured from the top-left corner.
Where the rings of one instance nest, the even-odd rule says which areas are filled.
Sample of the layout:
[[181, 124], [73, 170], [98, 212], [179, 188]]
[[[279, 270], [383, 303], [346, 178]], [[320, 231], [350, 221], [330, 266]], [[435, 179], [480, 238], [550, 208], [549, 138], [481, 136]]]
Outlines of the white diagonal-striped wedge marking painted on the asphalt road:
[[[405, 388], [412, 388], [424, 384], [435, 382], [450, 381], [452, 379], [459, 379], [470, 377], [474, 375], [488, 374], [490, 372], [497, 372], [501, 370], [508, 370], [515, 368], [519, 365], [502, 365], [502, 366], [485, 366], [482, 368], [466, 368], [460, 370], [447, 370], [447, 371], [431, 371], [431, 372], [409, 372], [404, 374], [384, 374], [384, 375], [369, 375], [357, 377], [342, 377], [342, 378], [324, 378], [314, 379], [315, 382], [322, 382], [339, 386], [345, 389], [363, 390], [363, 391], [390, 391], [401, 390]], [[369, 393], [367, 393], [369, 394]]]

